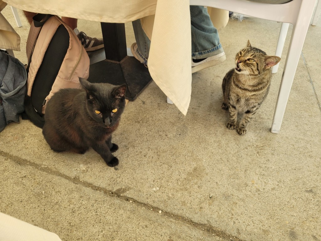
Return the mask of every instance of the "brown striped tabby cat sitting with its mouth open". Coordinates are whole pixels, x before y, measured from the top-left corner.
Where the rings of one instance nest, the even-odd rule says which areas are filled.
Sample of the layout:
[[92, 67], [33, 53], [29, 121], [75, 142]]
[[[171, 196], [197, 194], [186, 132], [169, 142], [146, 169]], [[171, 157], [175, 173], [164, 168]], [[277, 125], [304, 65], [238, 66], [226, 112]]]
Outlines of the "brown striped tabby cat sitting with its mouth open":
[[[229, 110], [226, 126], [235, 129], [239, 135], [247, 131], [247, 124], [265, 99], [271, 82], [271, 67], [281, 60], [277, 56], [268, 56], [261, 49], [247, 47], [241, 49], [235, 57], [236, 68], [231, 69], [222, 83], [224, 110]], [[239, 125], [237, 127], [237, 119]]]

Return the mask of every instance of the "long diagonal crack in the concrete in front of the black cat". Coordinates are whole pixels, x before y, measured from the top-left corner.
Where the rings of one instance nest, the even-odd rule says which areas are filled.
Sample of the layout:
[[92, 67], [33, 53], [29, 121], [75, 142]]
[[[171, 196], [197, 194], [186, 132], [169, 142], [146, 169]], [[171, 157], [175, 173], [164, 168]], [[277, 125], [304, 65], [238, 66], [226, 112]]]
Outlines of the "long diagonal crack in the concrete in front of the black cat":
[[[147, 209], [149, 211], [152, 211], [154, 213], [159, 213], [159, 211], [161, 210], [160, 208], [157, 208], [156, 206], [153, 206], [151, 204], [143, 203], [143, 202], [137, 201], [137, 200], [135, 200], [133, 198], [119, 195], [119, 194], [117, 194], [117, 192], [110, 191], [110, 190], [108, 190], [106, 188], [103, 188], [103, 187], [95, 186], [95, 185], [93, 185], [93, 184], [91, 184], [89, 182], [84, 182], [79, 177], [70, 177], [68, 175], [65, 175], [63, 173], [60, 173], [60, 172], [58, 172], [56, 170], [51, 169], [48, 166], [39, 165], [39, 164], [30, 162], [30, 161], [28, 161], [26, 159], [22, 159], [22, 158], [20, 158], [18, 156], [14, 156], [14, 155], [11, 155], [11, 154], [3, 152], [3, 151], [1, 151], [0, 154], [1, 154], [1, 156], [10, 158], [11, 160], [13, 160], [13, 162], [15, 162], [15, 163], [17, 163], [19, 165], [32, 166], [32, 167], [38, 169], [39, 171], [45, 172], [47, 174], [59, 176], [59, 177], [64, 178], [65, 180], [73, 182], [75, 184], [79, 184], [79, 185], [82, 185], [84, 187], [91, 188], [92, 190], [95, 190], [95, 191], [103, 192], [105, 195], [108, 195], [109, 197], [114, 197], [114, 198], [118, 198], [118, 199], [123, 200], [123, 201], [135, 203], [136, 205], [138, 205], [140, 207], [143, 207], [143, 208], [145, 208], [145, 209]], [[187, 225], [190, 225], [190, 226], [193, 226], [195, 228], [198, 228], [198, 229], [206, 232], [208, 235], [214, 235], [214, 236], [217, 236], [217, 237], [220, 237], [220, 238], [224, 238], [224, 239], [228, 239], [228, 240], [232, 240], [232, 241], [244, 241], [244, 240], [241, 240], [241, 239], [239, 239], [237, 237], [234, 237], [234, 236], [231, 236], [231, 235], [225, 233], [220, 228], [213, 227], [211, 224], [197, 223], [197, 222], [192, 221], [191, 219], [179, 216], [179, 215], [177, 215], [175, 213], [167, 212], [165, 210], [161, 210], [161, 214], [165, 215], [166, 217], [168, 217], [170, 219], [174, 219], [176, 221], [180, 221], [180, 222], [183, 222], [183, 223], [185, 223]], [[207, 222], [209, 223], [209, 221], [207, 221]]]

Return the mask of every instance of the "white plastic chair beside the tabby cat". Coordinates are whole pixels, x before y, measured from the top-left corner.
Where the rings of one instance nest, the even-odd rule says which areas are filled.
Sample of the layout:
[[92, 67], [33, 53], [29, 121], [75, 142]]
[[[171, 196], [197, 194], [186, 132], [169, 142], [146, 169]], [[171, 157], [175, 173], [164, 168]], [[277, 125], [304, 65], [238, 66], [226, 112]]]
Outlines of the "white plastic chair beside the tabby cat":
[[[289, 50], [285, 60], [281, 85], [274, 111], [271, 127], [272, 133], [279, 133], [281, 128], [285, 107], [290, 95], [293, 78], [298, 66], [301, 50], [316, 1], [317, 0], [292, 0], [291, 2], [284, 4], [267, 4], [247, 0], [190, 0], [190, 5], [215, 7], [251, 17], [282, 22], [275, 54], [280, 57], [289, 23], [293, 25]], [[275, 73], [277, 71], [277, 66], [272, 70]]]

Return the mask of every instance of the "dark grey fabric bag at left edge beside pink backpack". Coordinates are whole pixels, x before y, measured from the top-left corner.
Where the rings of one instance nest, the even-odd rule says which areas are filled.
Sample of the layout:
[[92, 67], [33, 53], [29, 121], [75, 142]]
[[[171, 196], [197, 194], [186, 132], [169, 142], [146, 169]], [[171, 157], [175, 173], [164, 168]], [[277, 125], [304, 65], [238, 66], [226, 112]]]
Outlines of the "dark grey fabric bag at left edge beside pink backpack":
[[10, 122], [19, 123], [24, 111], [27, 71], [24, 65], [0, 49], [0, 132]]

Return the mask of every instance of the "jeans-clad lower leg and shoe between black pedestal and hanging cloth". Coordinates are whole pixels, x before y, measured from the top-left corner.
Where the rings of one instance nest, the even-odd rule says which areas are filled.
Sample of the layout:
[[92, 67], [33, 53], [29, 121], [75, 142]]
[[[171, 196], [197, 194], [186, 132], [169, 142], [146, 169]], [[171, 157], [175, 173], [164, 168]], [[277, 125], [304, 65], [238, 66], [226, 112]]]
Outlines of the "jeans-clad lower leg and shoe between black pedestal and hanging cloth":
[[132, 22], [136, 43], [131, 46], [131, 51], [134, 57], [142, 64], [147, 65], [147, 59], [149, 56], [149, 49], [151, 47], [151, 40], [145, 34], [140, 20]]

